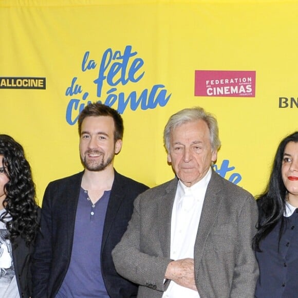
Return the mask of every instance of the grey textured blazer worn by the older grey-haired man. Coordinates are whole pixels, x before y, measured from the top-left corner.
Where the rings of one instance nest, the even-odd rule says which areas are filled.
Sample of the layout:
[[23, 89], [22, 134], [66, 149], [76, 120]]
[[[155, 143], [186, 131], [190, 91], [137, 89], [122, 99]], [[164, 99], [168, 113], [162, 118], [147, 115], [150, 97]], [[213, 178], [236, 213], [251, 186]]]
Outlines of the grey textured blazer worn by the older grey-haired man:
[[[177, 179], [147, 190], [112, 252], [118, 273], [140, 285], [138, 297], [161, 297], [170, 259], [170, 229]], [[200, 298], [254, 297], [258, 266], [252, 250], [257, 206], [253, 196], [214, 171], [194, 248]]]

